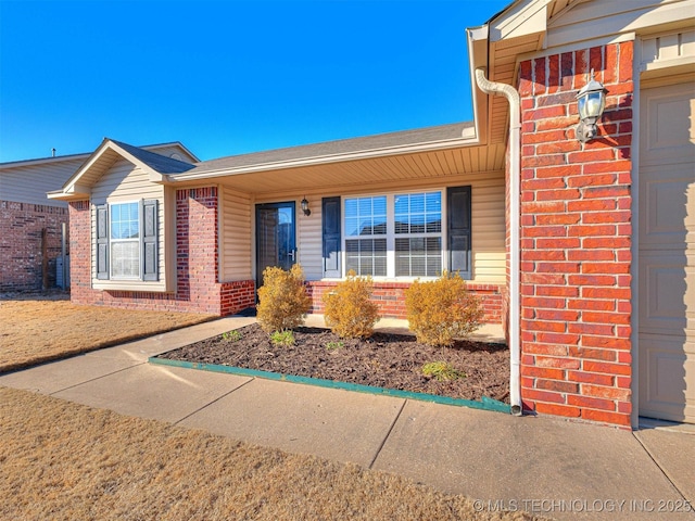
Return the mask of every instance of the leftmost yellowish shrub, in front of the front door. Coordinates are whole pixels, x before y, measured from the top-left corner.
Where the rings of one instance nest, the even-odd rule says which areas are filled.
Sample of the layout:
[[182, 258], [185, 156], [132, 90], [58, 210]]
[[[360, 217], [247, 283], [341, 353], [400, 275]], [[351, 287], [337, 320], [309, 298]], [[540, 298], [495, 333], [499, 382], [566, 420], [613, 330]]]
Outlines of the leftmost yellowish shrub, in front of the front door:
[[312, 300], [306, 294], [304, 272], [299, 264], [289, 271], [274, 266], [263, 271], [256, 318], [266, 333], [301, 326], [311, 307]]

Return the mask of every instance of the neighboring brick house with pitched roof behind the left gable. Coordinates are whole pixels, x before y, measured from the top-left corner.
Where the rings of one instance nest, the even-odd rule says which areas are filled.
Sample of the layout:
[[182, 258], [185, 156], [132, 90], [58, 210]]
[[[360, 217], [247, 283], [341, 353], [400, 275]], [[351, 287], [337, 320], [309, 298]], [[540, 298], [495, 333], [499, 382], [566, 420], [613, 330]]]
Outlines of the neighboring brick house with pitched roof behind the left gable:
[[[199, 161], [180, 143], [143, 149], [189, 163]], [[68, 221], [67, 203], [49, 200], [46, 193], [60, 189], [90, 155], [0, 163], [0, 292], [40, 290], [63, 282], [56, 265], [63, 241], [67, 246], [62, 226]]]

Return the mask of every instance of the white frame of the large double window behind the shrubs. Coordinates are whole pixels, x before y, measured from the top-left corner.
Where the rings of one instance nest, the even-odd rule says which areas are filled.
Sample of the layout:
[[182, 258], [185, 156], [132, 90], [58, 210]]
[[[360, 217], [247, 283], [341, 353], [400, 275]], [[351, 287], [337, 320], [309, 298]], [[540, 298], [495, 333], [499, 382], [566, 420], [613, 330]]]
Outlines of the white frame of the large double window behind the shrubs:
[[[419, 193], [432, 193], [439, 192], [441, 200], [441, 212], [442, 212], [442, 225], [439, 234], [434, 233], [395, 233], [395, 196], [396, 195], [413, 195]], [[427, 188], [420, 190], [397, 190], [397, 191], [382, 191], [382, 192], [369, 192], [369, 193], [361, 193], [361, 194], [351, 194], [343, 195], [341, 198], [341, 226], [342, 226], [342, 271], [343, 278], [346, 276], [348, 268], [348, 247], [346, 241], [359, 239], [361, 236], [348, 236], [346, 223], [345, 223], [345, 202], [346, 200], [359, 199], [359, 198], [378, 198], [386, 196], [387, 198], [387, 233], [384, 236], [364, 236], [365, 239], [370, 238], [386, 238], [387, 239], [387, 275], [386, 276], [372, 276], [374, 280], [379, 281], [397, 281], [397, 282], [412, 282], [418, 279], [428, 280], [435, 279], [437, 277], [427, 277], [427, 276], [397, 276], [395, 275], [395, 240], [399, 239], [409, 239], [409, 238], [420, 238], [420, 237], [439, 237], [441, 241], [441, 267], [440, 272], [443, 272], [446, 269], [446, 259], [448, 258], [448, 250], [446, 246], [446, 188]]]

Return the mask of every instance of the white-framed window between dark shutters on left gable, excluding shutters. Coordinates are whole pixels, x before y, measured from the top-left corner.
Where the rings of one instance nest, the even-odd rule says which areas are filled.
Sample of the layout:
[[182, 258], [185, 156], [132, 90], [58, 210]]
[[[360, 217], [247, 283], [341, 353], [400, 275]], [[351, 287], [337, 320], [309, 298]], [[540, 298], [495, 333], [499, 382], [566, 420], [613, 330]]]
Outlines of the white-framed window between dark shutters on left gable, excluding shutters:
[[140, 205], [111, 205], [111, 278], [140, 278]]

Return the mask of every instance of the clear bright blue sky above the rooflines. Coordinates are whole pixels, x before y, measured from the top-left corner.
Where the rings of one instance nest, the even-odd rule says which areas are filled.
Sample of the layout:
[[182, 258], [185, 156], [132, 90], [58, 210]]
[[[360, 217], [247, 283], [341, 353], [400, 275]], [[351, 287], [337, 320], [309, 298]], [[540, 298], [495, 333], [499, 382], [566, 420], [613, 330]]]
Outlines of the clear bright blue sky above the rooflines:
[[201, 160], [470, 120], [466, 27], [510, 0], [0, 0], [0, 162]]

